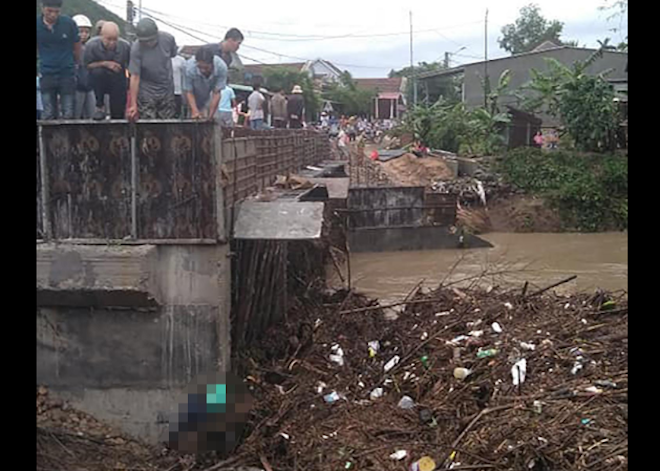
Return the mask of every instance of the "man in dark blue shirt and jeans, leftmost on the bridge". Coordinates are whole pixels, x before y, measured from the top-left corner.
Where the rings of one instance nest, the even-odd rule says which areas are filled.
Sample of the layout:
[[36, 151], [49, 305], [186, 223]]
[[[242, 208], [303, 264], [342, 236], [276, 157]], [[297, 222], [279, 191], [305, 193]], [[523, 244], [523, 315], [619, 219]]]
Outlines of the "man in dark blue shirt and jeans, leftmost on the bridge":
[[73, 119], [76, 91], [75, 65], [80, 62], [82, 45], [78, 26], [60, 15], [62, 0], [42, 0], [37, 16], [37, 53], [41, 62], [43, 119]]

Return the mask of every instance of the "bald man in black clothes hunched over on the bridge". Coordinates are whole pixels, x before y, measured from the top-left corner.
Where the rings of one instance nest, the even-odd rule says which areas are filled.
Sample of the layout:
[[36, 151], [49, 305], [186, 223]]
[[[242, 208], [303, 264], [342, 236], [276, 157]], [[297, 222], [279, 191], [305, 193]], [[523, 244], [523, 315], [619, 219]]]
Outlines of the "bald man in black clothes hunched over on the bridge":
[[119, 26], [105, 22], [101, 36], [93, 38], [85, 47], [83, 62], [89, 70], [90, 84], [96, 98], [95, 120], [105, 119], [105, 96], [110, 99], [110, 117], [126, 116], [126, 69], [131, 57], [131, 45], [119, 37]]

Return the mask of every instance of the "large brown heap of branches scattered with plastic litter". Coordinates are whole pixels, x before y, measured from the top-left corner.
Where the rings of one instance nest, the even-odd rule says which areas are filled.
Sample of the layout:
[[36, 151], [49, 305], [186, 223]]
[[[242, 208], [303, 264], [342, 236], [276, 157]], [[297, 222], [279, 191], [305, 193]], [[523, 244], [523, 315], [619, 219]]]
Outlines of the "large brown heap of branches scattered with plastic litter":
[[257, 401], [238, 453], [278, 470], [625, 469], [627, 312], [603, 293], [319, 297], [297, 309], [304, 348], [282, 348], [292, 313], [240, 359]]

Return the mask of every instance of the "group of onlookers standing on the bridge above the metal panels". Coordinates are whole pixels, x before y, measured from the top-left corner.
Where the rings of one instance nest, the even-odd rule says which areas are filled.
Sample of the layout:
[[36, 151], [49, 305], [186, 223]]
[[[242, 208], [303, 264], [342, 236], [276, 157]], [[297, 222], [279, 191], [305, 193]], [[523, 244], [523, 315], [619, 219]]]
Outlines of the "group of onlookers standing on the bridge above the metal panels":
[[[150, 18], [135, 27], [132, 44], [112, 21], [92, 25], [84, 15], [61, 13], [63, 0], [42, 0], [37, 16], [37, 119], [208, 119], [276, 128], [304, 126], [302, 89], [272, 100], [259, 83], [237, 102], [228, 71], [237, 61], [243, 34], [227, 31], [219, 44], [184, 58], [175, 38]], [[272, 103], [271, 103], [272, 102]]]

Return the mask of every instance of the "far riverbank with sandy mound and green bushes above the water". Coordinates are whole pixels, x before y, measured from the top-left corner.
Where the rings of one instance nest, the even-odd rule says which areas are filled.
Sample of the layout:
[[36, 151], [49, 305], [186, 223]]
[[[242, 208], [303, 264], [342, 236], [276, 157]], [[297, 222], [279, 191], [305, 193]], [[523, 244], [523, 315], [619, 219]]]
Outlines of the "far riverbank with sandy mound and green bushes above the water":
[[[628, 227], [628, 158], [520, 148], [497, 157], [468, 159], [416, 158], [388, 162], [367, 157], [378, 175], [372, 184], [424, 186], [458, 195], [458, 224], [475, 234], [490, 232], [609, 232]], [[359, 152], [353, 146], [352, 152]], [[470, 167], [458, 175], [451, 168]], [[361, 183], [370, 183], [362, 178]]]

